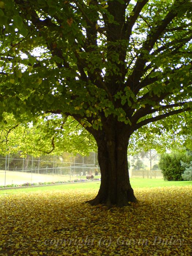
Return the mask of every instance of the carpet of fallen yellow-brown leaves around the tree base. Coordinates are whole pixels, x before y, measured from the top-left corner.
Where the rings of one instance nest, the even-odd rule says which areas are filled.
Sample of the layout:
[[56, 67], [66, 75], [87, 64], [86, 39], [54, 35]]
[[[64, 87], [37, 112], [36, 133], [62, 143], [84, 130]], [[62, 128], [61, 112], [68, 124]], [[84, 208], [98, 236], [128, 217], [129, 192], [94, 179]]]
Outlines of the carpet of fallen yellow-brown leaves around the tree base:
[[192, 186], [135, 189], [139, 203], [84, 203], [93, 189], [0, 197], [0, 255], [192, 255]]

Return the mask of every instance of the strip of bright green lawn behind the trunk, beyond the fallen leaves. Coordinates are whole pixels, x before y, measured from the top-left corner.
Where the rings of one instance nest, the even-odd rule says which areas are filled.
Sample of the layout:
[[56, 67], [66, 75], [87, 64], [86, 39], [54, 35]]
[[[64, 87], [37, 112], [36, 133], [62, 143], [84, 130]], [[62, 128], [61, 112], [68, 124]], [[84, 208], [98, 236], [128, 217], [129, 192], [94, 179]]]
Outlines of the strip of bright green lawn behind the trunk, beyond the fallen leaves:
[[[153, 187], [170, 187], [170, 186], [187, 186], [192, 185], [192, 181], [164, 181], [162, 179], [143, 179], [131, 178], [131, 185], [133, 188], [153, 188]], [[72, 183], [63, 185], [53, 185], [46, 187], [29, 187], [20, 189], [0, 190], [1, 194], [16, 194], [16, 193], [30, 193], [35, 191], [60, 191], [69, 189], [99, 189], [100, 181]]]

